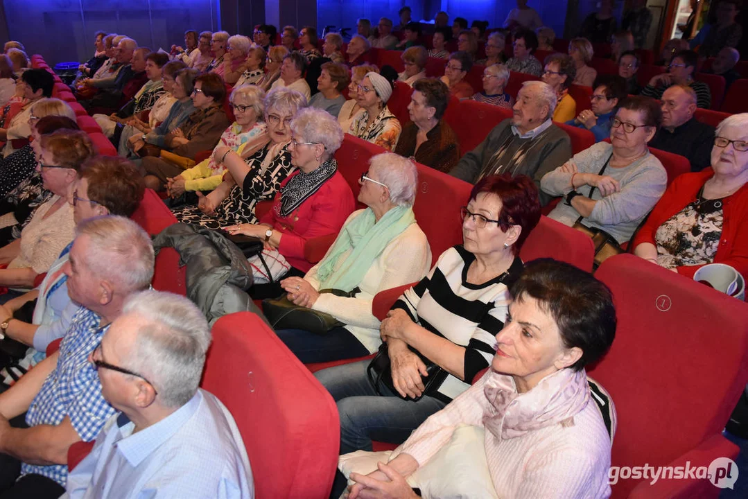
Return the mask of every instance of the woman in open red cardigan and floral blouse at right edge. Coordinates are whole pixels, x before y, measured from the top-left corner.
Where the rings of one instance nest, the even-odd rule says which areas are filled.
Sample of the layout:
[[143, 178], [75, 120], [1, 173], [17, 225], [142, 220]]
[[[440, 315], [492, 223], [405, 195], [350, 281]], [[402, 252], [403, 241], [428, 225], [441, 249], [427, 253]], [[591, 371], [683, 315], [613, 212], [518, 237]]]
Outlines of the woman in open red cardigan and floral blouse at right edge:
[[748, 113], [717, 126], [711, 168], [669, 186], [634, 238], [634, 254], [693, 278], [707, 263], [748, 277]]

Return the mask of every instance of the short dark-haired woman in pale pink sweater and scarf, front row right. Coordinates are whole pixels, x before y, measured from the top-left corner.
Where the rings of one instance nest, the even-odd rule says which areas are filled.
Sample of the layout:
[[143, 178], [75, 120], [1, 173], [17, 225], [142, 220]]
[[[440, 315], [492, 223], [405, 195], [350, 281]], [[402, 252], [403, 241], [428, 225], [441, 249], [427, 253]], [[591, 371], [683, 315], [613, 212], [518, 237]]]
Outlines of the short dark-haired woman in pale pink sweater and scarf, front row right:
[[536, 260], [511, 292], [488, 373], [390, 456], [378, 453], [379, 465], [343, 456], [343, 471], [358, 471], [349, 499], [610, 496], [615, 411], [584, 370], [616, 334], [610, 290], [568, 263]]

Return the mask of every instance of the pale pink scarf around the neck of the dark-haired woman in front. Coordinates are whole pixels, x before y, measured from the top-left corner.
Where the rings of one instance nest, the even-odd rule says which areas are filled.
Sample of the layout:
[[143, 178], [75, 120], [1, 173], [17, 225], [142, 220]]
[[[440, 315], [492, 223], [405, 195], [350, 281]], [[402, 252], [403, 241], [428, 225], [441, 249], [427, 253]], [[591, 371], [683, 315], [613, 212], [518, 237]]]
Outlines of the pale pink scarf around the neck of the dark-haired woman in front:
[[589, 385], [584, 370], [562, 369], [545, 376], [524, 394], [518, 394], [512, 376], [489, 370], [483, 393], [488, 407], [483, 424], [498, 440], [515, 438], [536, 429], [562, 423], [589, 402]]

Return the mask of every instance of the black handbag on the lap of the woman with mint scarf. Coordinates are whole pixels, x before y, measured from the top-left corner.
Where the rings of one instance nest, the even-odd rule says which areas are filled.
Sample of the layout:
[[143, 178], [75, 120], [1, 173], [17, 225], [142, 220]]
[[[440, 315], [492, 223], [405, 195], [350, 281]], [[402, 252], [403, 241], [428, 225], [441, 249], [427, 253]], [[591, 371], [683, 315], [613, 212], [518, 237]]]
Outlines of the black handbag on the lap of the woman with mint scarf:
[[[358, 287], [355, 287], [351, 291], [320, 290], [319, 293], [331, 293], [335, 296], [352, 298], [360, 291]], [[280, 329], [301, 329], [324, 336], [331, 329], [346, 325], [329, 313], [312, 310], [309, 307], [300, 307], [289, 300], [286, 295], [275, 299], [264, 299], [263, 313], [276, 331]]]

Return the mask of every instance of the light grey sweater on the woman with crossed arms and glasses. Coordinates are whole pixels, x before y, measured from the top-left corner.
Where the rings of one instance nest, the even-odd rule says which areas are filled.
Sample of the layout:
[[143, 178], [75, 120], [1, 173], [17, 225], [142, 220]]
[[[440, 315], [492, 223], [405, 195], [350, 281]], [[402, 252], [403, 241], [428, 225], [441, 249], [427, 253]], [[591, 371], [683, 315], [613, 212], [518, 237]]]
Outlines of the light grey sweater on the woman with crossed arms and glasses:
[[[570, 161], [574, 162], [579, 173], [597, 175], [611, 153], [613, 145], [598, 142], [589, 149], [574, 154]], [[567, 195], [571, 192], [571, 175], [561, 171], [561, 167], [556, 168], [545, 174], [540, 187], [552, 196]], [[625, 168], [611, 168], [608, 165], [603, 175], [617, 180], [621, 190], [605, 198], [600, 195], [600, 189], [592, 191], [592, 199], [598, 202], [582, 223], [587, 227], [604, 230], [622, 244], [631, 239], [634, 230], [637, 230], [640, 222], [665, 192], [667, 174], [660, 160], [647, 153]], [[591, 189], [591, 186], [581, 186], [577, 187], [577, 192], [587, 197]], [[569, 227], [574, 225], [579, 216], [574, 207], [563, 202], [558, 203], [548, 214], [549, 218]]]

